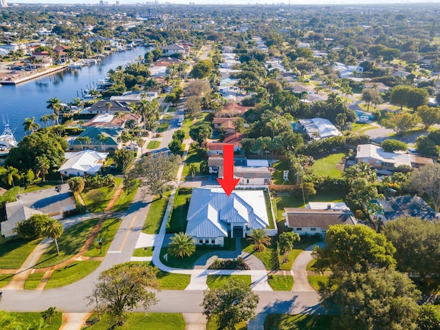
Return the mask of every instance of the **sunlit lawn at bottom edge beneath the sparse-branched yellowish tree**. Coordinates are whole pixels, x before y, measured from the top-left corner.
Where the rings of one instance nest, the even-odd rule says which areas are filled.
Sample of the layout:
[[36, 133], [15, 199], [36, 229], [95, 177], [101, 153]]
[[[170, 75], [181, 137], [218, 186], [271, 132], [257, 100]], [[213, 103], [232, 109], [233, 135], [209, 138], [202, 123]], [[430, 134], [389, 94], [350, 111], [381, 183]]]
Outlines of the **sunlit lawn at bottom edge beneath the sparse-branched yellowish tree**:
[[[96, 316], [91, 316], [89, 320], [96, 319]], [[108, 330], [110, 323], [107, 315], [103, 315], [101, 320], [87, 330]], [[128, 319], [122, 325], [117, 327], [118, 330], [145, 330], [145, 329], [160, 329], [160, 330], [185, 330], [184, 316], [177, 313], [129, 313]]]

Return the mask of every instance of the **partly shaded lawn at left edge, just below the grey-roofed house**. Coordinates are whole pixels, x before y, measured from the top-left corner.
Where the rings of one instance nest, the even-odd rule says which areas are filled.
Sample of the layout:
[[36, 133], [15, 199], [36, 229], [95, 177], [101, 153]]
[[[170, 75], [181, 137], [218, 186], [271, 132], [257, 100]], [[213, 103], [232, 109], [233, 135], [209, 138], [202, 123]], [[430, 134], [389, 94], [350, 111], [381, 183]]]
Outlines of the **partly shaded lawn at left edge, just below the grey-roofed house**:
[[16, 270], [23, 265], [30, 252], [34, 250], [41, 239], [28, 241], [26, 239], [14, 239], [0, 245], [0, 269]]

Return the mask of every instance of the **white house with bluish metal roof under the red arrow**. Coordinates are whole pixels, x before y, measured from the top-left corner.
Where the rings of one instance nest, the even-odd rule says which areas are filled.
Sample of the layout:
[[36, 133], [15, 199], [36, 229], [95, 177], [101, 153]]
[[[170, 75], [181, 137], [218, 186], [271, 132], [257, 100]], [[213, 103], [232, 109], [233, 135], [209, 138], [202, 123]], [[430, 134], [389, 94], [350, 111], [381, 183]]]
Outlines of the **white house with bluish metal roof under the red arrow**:
[[263, 190], [234, 190], [227, 196], [221, 188], [195, 188], [186, 220], [186, 233], [196, 244], [222, 246], [229, 232], [232, 238], [245, 237], [269, 226]]

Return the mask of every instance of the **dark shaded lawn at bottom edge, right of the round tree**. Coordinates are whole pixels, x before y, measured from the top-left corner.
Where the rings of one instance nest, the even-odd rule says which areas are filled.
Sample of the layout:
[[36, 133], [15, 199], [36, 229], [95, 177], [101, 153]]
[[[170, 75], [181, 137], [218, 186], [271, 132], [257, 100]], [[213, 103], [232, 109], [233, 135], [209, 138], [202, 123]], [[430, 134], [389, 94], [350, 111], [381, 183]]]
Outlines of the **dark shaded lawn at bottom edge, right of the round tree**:
[[269, 314], [265, 330], [334, 330], [331, 320], [336, 316], [307, 314]]

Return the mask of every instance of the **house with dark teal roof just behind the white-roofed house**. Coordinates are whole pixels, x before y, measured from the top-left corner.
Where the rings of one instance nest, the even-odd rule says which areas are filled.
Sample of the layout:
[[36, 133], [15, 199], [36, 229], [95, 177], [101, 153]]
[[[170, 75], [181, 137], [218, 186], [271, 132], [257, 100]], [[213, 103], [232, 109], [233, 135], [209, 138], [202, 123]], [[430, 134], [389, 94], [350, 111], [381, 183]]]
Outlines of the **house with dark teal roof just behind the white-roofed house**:
[[[96, 151], [114, 153], [122, 146], [120, 141], [121, 134], [122, 129], [90, 127], [72, 142], [72, 150], [78, 151], [89, 148]], [[83, 137], [88, 137], [90, 142], [83, 140]]]

